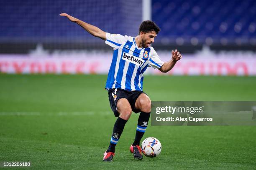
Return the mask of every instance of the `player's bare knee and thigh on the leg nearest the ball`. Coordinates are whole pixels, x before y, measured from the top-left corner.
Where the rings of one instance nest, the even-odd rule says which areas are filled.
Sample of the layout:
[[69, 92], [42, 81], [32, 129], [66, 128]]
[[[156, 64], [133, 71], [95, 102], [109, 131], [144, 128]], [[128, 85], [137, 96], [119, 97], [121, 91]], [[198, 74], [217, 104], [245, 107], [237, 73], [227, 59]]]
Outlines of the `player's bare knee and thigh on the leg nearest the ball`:
[[142, 112], [151, 111], [151, 100], [145, 93], [141, 93], [135, 102], [135, 108]]

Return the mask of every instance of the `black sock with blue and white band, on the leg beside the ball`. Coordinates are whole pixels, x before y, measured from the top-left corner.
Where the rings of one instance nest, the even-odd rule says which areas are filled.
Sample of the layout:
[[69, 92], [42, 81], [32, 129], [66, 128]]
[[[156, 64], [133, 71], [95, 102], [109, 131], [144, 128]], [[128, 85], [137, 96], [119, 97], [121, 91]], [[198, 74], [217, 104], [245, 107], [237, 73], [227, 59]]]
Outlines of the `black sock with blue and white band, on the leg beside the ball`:
[[141, 112], [139, 118], [138, 118], [138, 125], [137, 125], [137, 130], [136, 130], [136, 135], [135, 135], [135, 140], [133, 142], [133, 146], [135, 145], [140, 145], [141, 138], [143, 137], [146, 128], [148, 126], [148, 120], [150, 117], [150, 112]]

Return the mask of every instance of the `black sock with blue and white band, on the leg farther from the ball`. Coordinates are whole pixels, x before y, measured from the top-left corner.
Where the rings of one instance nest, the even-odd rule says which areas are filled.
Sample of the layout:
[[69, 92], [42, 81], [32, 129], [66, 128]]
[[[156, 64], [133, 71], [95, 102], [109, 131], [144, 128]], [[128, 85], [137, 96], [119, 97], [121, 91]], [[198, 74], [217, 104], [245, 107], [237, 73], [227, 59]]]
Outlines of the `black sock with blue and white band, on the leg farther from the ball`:
[[123, 132], [123, 128], [126, 122], [127, 120], [124, 120], [121, 117], [118, 117], [115, 121], [112, 137], [107, 152], [115, 153], [115, 145], [118, 143], [118, 140]]

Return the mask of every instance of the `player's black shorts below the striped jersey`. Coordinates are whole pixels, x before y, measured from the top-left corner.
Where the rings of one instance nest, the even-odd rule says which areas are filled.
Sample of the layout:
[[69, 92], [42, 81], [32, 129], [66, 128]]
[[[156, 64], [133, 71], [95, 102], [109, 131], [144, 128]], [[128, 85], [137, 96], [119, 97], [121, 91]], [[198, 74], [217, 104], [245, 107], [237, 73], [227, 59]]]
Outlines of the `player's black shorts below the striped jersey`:
[[110, 107], [113, 110], [115, 117], [119, 116], [119, 112], [117, 111], [116, 104], [117, 104], [117, 101], [121, 98], [125, 98], [128, 100], [133, 112], [135, 112], [135, 113], [141, 112], [141, 110], [138, 110], [135, 108], [135, 102], [136, 102], [137, 98], [139, 97], [139, 95], [141, 95], [142, 93], [146, 94], [145, 92], [140, 91], [140, 90], [128, 91], [128, 90], [124, 90], [124, 89], [120, 89], [120, 88], [108, 90], [108, 99], [110, 102]]

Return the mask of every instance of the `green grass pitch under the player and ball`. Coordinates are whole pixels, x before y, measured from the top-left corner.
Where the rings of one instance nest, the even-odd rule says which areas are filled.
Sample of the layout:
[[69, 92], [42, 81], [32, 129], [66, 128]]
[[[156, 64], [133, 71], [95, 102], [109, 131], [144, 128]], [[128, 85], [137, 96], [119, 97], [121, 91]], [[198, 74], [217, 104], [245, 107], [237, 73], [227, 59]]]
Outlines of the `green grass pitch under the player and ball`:
[[[0, 75], [0, 162], [31, 162], [26, 170], [256, 169], [255, 126], [149, 125], [143, 139], [158, 138], [161, 154], [136, 161], [134, 113], [113, 163], [102, 162], [116, 120], [106, 78]], [[256, 100], [256, 77], [145, 76], [143, 86], [151, 100]]]

